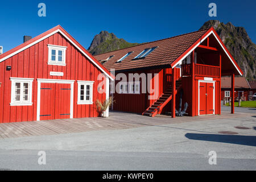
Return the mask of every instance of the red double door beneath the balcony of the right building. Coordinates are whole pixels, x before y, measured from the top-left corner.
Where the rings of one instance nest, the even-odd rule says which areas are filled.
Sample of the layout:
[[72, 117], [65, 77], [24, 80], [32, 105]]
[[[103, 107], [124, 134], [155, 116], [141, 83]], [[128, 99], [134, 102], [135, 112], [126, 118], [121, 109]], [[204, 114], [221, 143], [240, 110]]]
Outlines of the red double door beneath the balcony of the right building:
[[200, 82], [199, 85], [199, 114], [214, 114], [214, 85], [212, 82]]

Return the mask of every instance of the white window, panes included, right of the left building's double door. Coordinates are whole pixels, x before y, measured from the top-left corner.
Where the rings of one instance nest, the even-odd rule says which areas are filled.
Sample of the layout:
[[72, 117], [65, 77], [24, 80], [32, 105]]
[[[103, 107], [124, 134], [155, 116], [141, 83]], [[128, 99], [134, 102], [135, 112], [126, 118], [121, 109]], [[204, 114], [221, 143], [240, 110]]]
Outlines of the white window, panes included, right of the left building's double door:
[[93, 82], [94, 81], [77, 81], [77, 104], [93, 104]]

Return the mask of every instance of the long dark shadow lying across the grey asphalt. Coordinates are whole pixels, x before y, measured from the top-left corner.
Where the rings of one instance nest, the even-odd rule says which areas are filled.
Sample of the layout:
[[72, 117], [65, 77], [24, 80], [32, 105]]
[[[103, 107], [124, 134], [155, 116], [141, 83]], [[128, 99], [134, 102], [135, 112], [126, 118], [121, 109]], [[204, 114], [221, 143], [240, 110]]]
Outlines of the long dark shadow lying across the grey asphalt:
[[191, 140], [233, 143], [256, 147], [256, 136], [187, 133], [185, 137]]

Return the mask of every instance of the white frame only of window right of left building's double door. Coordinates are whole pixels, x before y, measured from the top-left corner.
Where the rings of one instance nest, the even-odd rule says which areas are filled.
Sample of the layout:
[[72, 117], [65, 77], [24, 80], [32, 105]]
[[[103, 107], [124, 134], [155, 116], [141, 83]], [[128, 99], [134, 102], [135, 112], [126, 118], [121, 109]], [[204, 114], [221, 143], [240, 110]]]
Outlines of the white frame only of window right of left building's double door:
[[[93, 83], [94, 81], [79, 81], [77, 80], [77, 105], [93, 104]], [[84, 85], [84, 100], [81, 100], [81, 85]], [[86, 85], [90, 85], [90, 100], [86, 101]]]

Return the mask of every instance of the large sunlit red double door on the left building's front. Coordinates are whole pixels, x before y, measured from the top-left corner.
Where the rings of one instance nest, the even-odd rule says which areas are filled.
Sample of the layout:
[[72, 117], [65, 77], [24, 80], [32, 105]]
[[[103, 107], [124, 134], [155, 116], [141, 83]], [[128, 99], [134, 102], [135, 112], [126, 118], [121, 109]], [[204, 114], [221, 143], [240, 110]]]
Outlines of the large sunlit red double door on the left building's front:
[[40, 92], [40, 120], [70, 118], [70, 84], [42, 83]]

